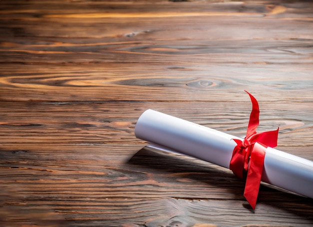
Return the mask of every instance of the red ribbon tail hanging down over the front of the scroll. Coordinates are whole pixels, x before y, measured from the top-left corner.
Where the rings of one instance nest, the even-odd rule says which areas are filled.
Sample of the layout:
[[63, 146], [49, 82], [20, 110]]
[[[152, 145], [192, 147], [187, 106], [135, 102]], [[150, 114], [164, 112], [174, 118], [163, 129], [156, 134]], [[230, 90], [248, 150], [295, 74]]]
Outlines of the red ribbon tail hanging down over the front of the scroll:
[[256, 199], [261, 182], [265, 150], [265, 147], [258, 143], [255, 143], [252, 147], [252, 152], [250, 156], [250, 164], [246, 177], [243, 196], [253, 210], [255, 209]]

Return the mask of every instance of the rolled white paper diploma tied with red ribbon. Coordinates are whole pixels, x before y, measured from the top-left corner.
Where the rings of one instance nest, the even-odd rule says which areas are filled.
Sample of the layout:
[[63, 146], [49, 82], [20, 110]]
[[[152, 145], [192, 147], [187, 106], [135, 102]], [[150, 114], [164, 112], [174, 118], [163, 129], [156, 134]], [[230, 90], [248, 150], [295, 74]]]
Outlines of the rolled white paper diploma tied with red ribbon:
[[[154, 110], [144, 111], [135, 136], [153, 147], [184, 154], [229, 169], [238, 137]], [[242, 140], [242, 139], [240, 139]], [[261, 181], [313, 198], [313, 162], [268, 147]]]

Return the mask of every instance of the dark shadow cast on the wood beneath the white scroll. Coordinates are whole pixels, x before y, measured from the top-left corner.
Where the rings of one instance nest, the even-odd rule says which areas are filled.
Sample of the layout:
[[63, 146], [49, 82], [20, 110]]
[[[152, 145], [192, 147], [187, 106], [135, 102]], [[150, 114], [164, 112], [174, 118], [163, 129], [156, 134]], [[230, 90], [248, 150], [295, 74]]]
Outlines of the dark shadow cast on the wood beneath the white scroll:
[[[155, 173], [183, 173], [184, 178], [199, 181], [210, 187], [218, 187], [229, 193], [232, 200], [242, 201], [242, 207], [254, 213], [243, 197], [244, 181], [223, 167], [192, 157], [143, 147], [128, 161], [129, 164], [153, 169]], [[177, 177], [180, 177], [178, 174]], [[193, 199], [193, 198], [190, 198]], [[205, 198], [194, 198], [203, 199]], [[227, 200], [226, 198], [224, 200]], [[282, 209], [296, 216], [311, 220], [313, 224], [313, 199], [299, 196], [261, 183], [257, 204]]]

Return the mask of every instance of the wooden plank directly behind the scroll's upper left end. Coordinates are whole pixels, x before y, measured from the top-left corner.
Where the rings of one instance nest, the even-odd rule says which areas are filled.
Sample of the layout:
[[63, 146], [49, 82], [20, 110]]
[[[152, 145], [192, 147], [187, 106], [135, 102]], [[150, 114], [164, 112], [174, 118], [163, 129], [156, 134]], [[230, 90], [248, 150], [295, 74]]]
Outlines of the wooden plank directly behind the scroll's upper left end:
[[[56, 142], [101, 145], [121, 141], [127, 145], [137, 144], [134, 126], [146, 109], [243, 138], [251, 111], [249, 98], [245, 98], [245, 102], [0, 102], [1, 138], [3, 143], [19, 138], [14, 142], [16, 145]], [[258, 131], [279, 127], [279, 148], [301, 155], [292, 151], [293, 147], [305, 150], [313, 145], [311, 105], [260, 102], [259, 106]], [[307, 157], [312, 158], [309, 154]]]

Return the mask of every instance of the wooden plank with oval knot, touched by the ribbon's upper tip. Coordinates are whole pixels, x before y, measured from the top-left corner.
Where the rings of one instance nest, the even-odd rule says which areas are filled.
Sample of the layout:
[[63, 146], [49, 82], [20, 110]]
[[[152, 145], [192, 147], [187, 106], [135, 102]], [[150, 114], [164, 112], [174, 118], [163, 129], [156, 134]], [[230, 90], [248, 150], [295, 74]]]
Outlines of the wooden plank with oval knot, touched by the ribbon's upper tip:
[[6, 95], [0, 100], [243, 101], [243, 90], [259, 101], [312, 100], [311, 64], [180, 65], [65, 64], [59, 71], [58, 65], [6, 64], [0, 78]]

